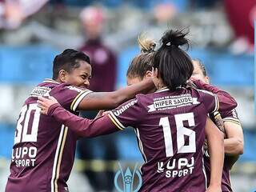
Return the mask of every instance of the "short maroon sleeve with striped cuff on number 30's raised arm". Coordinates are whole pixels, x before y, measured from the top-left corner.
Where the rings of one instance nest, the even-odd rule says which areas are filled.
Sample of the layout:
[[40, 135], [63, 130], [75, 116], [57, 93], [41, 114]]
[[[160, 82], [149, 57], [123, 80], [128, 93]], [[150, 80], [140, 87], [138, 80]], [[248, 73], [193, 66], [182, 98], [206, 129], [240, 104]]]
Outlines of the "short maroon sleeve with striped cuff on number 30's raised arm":
[[51, 90], [50, 95], [54, 96], [66, 110], [76, 111], [82, 99], [91, 92], [77, 86], [62, 84]]

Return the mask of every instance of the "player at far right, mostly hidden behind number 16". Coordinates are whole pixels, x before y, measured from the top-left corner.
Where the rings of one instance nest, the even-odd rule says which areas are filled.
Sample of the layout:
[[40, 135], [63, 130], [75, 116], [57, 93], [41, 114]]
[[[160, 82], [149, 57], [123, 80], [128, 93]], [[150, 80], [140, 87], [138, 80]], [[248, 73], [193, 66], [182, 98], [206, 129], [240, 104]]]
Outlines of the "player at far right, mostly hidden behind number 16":
[[[193, 65], [194, 71], [192, 78], [194, 78], [194, 80], [199, 80], [194, 81], [198, 86], [198, 89], [209, 90], [214, 94], [218, 94], [219, 90], [216, 87], [210, 86], [210, 78], [207, 76], [206, 68], [202, 62], [198, 59], [194, 59]], [[243, 153], [242, 126], [235, 109], [221, 111], [220, 114], [224, 122], [224, 132], [226, 134], [226, 138], [224, 139], [225, 161], [222, 172], [222, 192], [232, 192], [230, 169], [234, 165], [234, 162], [238, 160], [239, 155]], [[204, 162], [207, 178], [210, 178], [210, 158], [207, 151], [204, 154]]]

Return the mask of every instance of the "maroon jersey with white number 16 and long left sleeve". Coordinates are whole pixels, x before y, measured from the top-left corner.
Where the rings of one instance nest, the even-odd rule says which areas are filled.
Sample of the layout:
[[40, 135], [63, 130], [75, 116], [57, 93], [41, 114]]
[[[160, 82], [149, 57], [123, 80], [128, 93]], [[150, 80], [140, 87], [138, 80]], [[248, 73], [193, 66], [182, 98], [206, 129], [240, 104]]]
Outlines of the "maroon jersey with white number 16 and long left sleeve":
[[[230, 109], [222, 100], [219, 110]], [[226, 104], [225, 104], [226, 103]], [[48, 113], [81, 136], [110, 134], [133, 126], [145, 163], [141, 191], [205, 191], [203, 143], [208, 113], [218, 110], [218, 97], [205, 90], [159, 90], [137, 97], [95, 120], [51, 106]], [[115, 128], [115, 127], [116, 128]], [[117, 129], [118, 128], [118, 129]]]

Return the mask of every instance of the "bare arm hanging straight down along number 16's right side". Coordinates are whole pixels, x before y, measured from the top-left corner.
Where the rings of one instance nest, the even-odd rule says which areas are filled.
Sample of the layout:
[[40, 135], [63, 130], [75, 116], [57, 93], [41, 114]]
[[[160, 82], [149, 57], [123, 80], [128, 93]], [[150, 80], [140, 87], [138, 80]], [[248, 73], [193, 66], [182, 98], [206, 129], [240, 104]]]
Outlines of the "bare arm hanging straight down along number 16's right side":
[[[222, 169], [224, 163], [224, 137], [210, 118], [206, 119], [206, 139], [210, 153], [210, 185], [207, 192], [222, 191]], [[216, 150], [218, 149], [218, 150]]]

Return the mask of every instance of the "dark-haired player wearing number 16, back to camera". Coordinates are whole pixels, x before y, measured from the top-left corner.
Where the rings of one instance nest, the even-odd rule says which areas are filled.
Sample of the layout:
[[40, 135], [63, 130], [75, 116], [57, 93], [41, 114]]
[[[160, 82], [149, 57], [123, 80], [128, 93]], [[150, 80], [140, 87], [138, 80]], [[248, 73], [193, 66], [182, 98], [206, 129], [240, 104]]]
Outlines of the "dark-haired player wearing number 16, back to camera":
[[[218, 110], [218, 98], [208, 91], [182, 87], [194, 70], [189, 56], [178, 47], [188, 44], [185, 35], [170, 30], [162, 37], [162, 46], [154, 54], [153, 62], [158, 91], [138, 94], [94, 120], [70, 114], [54, 98], [39, 98], [42, 114], [50, 115], [83, 137], [136, 127], [145, 160], [141, 191], [221, 191], [223, 135], [207, 118], [208, 113]], [[234, 106], [223, 102], [219, 110]], [[205, 138], [212, 170], [207, 190], [202, 160]]]

